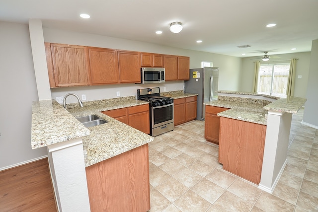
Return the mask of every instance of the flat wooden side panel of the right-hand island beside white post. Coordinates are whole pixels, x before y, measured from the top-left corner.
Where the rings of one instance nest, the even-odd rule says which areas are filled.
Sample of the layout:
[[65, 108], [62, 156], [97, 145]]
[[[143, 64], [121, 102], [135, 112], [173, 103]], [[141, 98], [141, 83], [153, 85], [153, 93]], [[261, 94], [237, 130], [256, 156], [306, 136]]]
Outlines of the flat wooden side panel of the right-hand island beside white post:
[[219, 162], [223, 168], [259, 184], [266, 126], [221, 117]]

